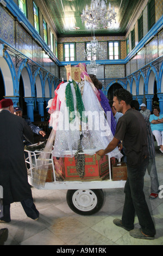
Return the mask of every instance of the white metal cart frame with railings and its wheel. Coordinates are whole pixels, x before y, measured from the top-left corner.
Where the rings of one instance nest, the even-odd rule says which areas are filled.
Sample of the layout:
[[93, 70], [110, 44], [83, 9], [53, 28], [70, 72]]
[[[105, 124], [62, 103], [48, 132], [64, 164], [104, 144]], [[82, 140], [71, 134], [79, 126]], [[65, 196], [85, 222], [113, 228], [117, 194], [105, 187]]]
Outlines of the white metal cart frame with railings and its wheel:
[[39, 167], [39, 156], [42, 151], [24, 151], [28, 153], [26, 163], [28, 163], [30, 166], [28, 169], [29, 184], [41, 190], [67, 190], [66, 200], [68, 206], [70, 206], [74, 212], [80, 215], [92, 215], [102, 208], [104, 203], [104, 193], [102, 189], [123, 188], [126, 183], [126, 180], [113, 181], [111, 179], [110, 157], [108, 157], [109, 179], [99, 181], [58, 181], [55, 175], [53, 156], [51, 152], [48, 152], [50, 155], [49, 159], [43, 159], [43, 161], [47, 161], [48, 165], [52, 164], [54, 181], [46, 182], [45, 186], [37, 187], [33, 182], [33, 169]]

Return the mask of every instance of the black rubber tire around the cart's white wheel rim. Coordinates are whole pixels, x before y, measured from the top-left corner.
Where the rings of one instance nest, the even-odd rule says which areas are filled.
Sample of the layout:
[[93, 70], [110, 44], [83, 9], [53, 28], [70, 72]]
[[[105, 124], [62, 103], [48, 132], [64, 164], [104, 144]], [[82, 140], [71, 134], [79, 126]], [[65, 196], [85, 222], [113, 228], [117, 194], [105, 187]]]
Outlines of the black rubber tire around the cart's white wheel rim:
[[[84, 210], [78, 209], [73, 203], [73, 196], [74, 196], [74, 193], [77, 193], [77, 191], [80, 191], [80, 192], [83, 191], [83, 194], [85, 191], [86, 192], [88, 191], [89, 193], [91, 193], [91, 192], [95, 193], [96, 200], [97, 200], [95, 207], [88, 211], [86, 211], [86, 208]], [[97, 189], [97, 190], [68, 190], [67, 194], [66, 194], [66, 200], [67, 200], [67, 204], [70, 207], [70, 209], [72, 211], [76, 212], [76, 214], [92, 215], [92, 214], [96, 214], [96, 212], [98, 212], [102, 208], [102, 206], [104, 204], [104, 193], [103, 193], [103, 190], [101, 190], [101, 189]]]

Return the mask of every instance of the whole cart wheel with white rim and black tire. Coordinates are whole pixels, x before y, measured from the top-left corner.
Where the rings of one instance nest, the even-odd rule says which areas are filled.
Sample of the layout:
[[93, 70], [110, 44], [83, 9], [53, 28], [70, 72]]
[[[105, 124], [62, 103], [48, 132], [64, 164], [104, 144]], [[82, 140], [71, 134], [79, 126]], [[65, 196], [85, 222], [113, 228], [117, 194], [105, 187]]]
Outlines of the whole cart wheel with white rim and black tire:
[[102, 190], [68, 190], [66, 195], [70, 209], [80, 215], [92, 215], [98, 212], [104, 203]]

